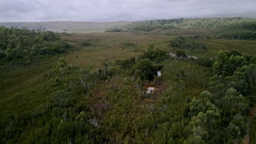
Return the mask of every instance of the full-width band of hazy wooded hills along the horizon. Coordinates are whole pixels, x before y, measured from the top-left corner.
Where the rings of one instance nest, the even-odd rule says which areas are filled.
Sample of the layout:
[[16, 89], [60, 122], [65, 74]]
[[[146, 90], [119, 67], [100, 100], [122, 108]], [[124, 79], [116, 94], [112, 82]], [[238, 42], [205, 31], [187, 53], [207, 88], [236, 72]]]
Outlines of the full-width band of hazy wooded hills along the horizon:
[[203, 19], [162, 19], [146, 21], [113, 22], [0, 22], [0, 26], [35, 29], [39, 31], [71, 32], [96, 31], [108, 29], [108, 32], [152, 31], [157, 28], [221, 28], [221, 29], [256, 29], [256, 20], [243, 17], [203, 18]]

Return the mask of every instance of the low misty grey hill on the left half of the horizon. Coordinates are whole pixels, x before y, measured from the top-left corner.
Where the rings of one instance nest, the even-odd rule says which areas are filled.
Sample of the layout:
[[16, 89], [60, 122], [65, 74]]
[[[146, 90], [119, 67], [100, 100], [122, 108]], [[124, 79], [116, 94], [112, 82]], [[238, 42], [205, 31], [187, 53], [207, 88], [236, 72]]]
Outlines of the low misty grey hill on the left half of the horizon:
[[39, 31], [74, 32], [106, 30], [110, 27], [124, 26], [129, 21], [112, 22], [74, 22], [74, 21], [50, 21], [50, 22], [0, 22], [0, 26], [36, 29]]

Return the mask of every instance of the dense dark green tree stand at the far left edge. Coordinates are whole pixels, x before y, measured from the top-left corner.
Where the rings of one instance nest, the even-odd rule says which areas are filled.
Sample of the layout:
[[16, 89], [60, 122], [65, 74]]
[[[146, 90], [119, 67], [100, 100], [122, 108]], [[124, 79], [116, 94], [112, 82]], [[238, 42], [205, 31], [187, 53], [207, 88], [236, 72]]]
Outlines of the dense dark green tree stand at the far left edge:
[[71, 48], [54, 32], [0, 27], [0, 59], [30, 63], [44, 55], [56, 55]]

